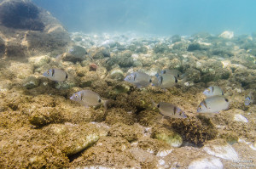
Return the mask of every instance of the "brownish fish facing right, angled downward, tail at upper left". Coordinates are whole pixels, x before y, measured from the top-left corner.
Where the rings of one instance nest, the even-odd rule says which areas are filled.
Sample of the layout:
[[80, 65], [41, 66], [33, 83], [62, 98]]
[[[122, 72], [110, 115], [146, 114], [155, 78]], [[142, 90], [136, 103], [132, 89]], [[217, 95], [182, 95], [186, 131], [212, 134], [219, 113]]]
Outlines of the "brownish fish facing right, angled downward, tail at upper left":
[[157, 107], [160, 110], [160, 114], [166, 115], [172, 118], [187, 118], [187, 115], [183, 112], [183, 110], [179, 109], [176, 105], [160, 102], [159, 104], [155, 104], [154, 100], [152, 101], [152, 105]]

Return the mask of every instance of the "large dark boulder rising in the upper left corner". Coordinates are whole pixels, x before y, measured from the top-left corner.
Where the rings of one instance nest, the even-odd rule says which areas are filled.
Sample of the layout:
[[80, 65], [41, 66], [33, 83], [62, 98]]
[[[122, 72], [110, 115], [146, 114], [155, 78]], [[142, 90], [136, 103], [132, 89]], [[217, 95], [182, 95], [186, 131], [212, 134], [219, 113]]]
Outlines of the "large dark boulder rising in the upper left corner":
[[0, 0], [0, 58], [64, 53], [67, 31], [49, 12], [29, 0]]

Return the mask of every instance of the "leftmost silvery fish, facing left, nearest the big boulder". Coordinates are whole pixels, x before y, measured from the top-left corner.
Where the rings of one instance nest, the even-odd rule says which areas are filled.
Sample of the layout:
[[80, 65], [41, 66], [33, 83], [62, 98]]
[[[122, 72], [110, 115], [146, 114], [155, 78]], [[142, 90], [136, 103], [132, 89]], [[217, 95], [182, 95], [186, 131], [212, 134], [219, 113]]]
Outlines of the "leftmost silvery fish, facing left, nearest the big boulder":
[[44, 72], [43, 76], [49, 78], [51, 81], [64, 82], [67, 80], [67, 73], [65, 70], [52, 68]]

